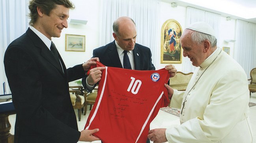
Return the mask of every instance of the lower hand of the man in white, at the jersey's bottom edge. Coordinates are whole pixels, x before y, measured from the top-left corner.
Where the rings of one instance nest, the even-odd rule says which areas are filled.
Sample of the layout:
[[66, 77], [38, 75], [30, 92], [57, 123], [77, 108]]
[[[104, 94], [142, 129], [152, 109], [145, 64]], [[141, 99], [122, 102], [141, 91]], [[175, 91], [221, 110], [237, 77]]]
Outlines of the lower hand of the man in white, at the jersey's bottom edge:
[[166, 129], [153, 129], [149, 130], [148, 138], [154, 143], [165, 143], [167, 141], [165, 136]]

